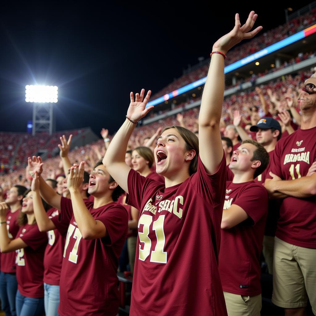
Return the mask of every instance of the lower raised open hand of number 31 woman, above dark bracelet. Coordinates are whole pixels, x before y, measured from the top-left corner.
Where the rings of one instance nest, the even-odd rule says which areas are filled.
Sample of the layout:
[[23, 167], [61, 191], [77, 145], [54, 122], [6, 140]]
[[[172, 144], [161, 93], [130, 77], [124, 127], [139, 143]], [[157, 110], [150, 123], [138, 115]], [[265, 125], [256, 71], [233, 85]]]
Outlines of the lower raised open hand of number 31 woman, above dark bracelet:
[[134, 101], [134, 94], [133, 92], [131, 92], [131, 103], [127, 110], [127, 117], [131, 119], [132, 121], [134, 121], [135, 123], [138, 122], [143, 117], [145, 117], [147, 113], [154, 107], [154, 106], [148, 106], [146, 108], [151, 91], [148, 90], [145, 99], [144, 99], [144, 94], [145, 94], [145, 89], [142, 89], [140, 94], [137, 93], [135, 95], [135, 101]]

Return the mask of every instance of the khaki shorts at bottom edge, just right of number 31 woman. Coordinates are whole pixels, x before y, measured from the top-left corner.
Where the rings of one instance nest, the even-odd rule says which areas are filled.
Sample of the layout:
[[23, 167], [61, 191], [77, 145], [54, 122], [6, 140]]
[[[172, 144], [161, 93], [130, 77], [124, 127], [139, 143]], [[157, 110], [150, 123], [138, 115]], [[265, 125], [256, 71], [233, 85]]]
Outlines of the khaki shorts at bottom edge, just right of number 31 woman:
[[228, 316], [260, 316], [261, 294], [244, 296], [224, 292]]

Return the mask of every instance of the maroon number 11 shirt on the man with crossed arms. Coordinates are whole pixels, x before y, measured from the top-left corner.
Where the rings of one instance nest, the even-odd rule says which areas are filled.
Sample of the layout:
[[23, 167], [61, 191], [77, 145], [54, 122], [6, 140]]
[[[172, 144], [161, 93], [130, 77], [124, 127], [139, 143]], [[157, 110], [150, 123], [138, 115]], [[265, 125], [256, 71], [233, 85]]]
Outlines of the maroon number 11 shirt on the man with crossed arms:
[[[270, 171], [283, 180], [306, 176], [316, 159], [315, 135], [316, 127], [299, 129], [288, 137], [281, 138], [276, 144]], [[292, 245], [316, 248], [315, 207], [316, 196], [283, 199], [276, 237]]]

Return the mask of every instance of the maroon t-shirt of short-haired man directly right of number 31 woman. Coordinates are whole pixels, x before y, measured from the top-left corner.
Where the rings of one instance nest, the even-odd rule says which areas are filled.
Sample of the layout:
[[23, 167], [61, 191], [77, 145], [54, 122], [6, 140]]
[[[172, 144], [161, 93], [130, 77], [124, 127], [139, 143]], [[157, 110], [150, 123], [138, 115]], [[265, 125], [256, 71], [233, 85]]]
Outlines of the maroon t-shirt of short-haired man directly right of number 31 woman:
[[238, 295], [259, 295], [259, 260], [268, 212], [268, 193], [254, 181], [229, 181], [224, 210], [233, 204], [240, 206], [249, 218], [230, 229], [221, 229], [219, 272], [223, 291]]

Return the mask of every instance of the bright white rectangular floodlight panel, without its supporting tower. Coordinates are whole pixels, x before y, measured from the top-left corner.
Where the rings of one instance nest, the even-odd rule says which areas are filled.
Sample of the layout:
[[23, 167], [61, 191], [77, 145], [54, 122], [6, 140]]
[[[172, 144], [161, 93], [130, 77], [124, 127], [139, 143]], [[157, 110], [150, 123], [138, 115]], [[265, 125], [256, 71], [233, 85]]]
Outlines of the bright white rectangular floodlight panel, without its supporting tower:
[[34, 103], [57, 103], [58, 87], [56, 86], [25, 86], [25, 101]]

